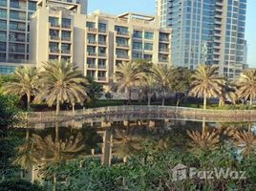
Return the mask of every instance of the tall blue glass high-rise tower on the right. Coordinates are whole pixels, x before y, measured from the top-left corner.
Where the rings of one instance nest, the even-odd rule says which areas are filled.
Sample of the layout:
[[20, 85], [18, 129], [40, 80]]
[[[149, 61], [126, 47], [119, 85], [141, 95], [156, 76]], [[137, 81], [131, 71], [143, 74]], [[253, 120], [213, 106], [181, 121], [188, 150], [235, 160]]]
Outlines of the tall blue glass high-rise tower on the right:
[[246, 68], [246, 0], [157, 0], [160, 26], [172, 29], [172, 63], [216, 64], [229, 78]]

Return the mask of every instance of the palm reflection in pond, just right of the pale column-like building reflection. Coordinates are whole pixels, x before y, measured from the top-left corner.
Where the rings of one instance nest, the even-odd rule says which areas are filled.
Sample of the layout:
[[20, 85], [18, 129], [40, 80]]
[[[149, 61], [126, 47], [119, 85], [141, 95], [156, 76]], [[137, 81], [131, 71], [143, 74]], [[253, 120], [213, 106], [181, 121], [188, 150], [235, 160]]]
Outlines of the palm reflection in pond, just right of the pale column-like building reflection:
[[126, 130], [115, 129], [113, 138], [113, 152], [118, 158], [122, 158], [124, 162], [128, 157], [136, 155], [141, 150], [141, 138], [130, 135]]

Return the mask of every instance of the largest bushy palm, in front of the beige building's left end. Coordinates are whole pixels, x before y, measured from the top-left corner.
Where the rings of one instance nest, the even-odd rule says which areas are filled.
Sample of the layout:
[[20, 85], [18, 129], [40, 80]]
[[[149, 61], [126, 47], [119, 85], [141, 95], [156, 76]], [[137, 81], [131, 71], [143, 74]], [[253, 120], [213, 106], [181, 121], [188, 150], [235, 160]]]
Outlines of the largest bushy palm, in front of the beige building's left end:
[[35, 101], [46, 100], [50, 107], [55, 103], [56, 115], [59, 114], [61, 103], [70, 102], [75, 112], [75, 103], [82, 104], [87, 96], [85, 88], [87, 80], [77, 67], [69, 62], [42, 63], [38, 82], [40, 94], [35, 97]]

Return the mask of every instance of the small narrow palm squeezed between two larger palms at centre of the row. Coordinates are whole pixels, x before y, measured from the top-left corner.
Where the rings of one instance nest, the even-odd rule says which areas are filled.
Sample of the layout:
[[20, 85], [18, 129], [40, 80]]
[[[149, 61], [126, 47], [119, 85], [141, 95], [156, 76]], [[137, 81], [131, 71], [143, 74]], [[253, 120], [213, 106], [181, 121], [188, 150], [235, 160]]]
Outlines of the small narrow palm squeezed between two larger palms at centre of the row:
[[144, 75], [144, 77], [141, 79], [141, 88], [145, 91], [147, 94], [147, 104], [150, 105], [151, 98], [154, 96], [154, 94], [157, 91], [157, 80], [156, 77], [152, 74]]

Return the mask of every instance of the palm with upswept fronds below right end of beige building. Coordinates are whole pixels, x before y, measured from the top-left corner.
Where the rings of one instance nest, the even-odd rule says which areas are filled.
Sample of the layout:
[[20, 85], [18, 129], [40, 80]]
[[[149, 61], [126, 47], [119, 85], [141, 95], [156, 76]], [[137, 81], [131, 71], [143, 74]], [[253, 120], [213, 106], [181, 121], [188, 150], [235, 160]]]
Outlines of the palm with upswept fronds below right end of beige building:
[[164, 105], [165, 102], [165, 94], [168, 90], [170, 78], [174, 72], [174, 69], [172, 66], [167, 64], [157, 64], [153, 65], [152, 67], [152, 73], [155, 76], [161, 93], [161, 105]]

